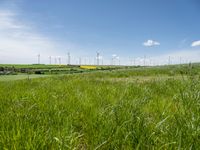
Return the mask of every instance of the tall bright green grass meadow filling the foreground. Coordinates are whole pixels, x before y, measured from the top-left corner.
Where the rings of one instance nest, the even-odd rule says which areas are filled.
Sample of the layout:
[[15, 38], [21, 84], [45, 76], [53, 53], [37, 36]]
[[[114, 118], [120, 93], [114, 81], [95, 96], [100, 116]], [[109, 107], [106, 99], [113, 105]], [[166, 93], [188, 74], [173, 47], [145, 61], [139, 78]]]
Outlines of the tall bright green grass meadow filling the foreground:
[[200, 149], [199, 73], [197, 65], [0, 80], [0, 149]]

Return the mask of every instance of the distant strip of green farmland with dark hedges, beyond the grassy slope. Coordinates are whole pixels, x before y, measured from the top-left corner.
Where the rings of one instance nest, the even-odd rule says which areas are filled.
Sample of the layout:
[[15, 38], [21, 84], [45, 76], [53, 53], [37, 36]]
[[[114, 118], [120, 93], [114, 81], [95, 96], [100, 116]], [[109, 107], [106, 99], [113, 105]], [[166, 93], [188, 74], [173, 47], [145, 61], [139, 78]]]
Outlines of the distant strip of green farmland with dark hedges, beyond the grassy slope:
[[74, 74], [86, 73], [105, 70], [118, 70], [124, 66], [97, 66], [96, 69], [84, 69], [79, 65], [45, 65], [45, 64], [0, 64], [1, 75], [18, 75], [18, 74]]

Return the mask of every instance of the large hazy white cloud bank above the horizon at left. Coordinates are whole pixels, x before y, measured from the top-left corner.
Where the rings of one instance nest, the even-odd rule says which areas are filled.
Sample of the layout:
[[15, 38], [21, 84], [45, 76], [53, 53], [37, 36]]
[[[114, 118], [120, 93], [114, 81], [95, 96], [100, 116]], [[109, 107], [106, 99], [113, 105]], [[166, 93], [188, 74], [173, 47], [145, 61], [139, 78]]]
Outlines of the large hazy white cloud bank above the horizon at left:
[[57, 56], [64, 46], [21, 22], [15, 12], [0, 10], [0, 63], [48, 63], [48, 56]]

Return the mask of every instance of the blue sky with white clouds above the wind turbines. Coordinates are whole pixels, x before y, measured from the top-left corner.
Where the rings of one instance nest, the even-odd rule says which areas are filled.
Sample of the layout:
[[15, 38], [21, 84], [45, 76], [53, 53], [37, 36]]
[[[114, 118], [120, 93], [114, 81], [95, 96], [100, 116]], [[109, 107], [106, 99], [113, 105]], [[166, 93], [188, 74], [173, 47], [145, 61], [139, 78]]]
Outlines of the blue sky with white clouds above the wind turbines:
[[0, 63], [200, 60], [198, 0], [0, 0]]

